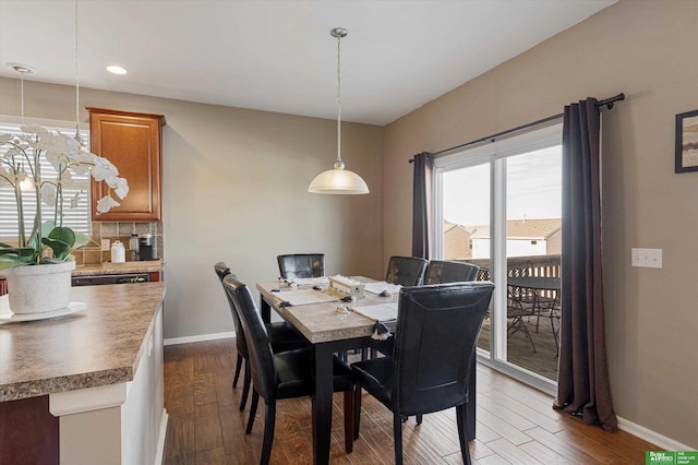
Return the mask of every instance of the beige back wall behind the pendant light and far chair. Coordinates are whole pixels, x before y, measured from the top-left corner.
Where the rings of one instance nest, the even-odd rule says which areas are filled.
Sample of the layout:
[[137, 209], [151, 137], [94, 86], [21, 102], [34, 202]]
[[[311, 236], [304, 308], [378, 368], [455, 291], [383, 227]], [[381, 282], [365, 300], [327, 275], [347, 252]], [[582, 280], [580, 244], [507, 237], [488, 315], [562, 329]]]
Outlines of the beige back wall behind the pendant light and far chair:
[[[74, 120], [74, 98], [72, 87], [25, 81], [26, 116]], [[19, 115], [19, 103], [20, 82], [0, 79], [0, 114]], [[308, 184], [336, 159], [336, 121], [87, 88], [81, 106], [166, 117], [166, 338], [232, 331], [218, 261], [253, 288], [278, 277], [280, 253], [324, 252], [330, 274], [385, 273], [382, 128], [342, 123], [342, 159], [371, 193], [317, 195]]]

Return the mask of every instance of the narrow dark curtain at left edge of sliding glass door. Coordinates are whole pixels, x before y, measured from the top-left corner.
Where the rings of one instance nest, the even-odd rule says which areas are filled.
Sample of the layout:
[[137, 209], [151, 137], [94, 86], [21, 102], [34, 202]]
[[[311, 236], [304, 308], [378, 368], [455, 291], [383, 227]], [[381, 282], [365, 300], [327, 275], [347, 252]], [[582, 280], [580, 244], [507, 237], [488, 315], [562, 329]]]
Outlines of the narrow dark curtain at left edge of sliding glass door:
[[412, 257], [429, 260], [429, 224], [432, 216], [432, 168], [431, 154], [414, 155], [412, 183]]

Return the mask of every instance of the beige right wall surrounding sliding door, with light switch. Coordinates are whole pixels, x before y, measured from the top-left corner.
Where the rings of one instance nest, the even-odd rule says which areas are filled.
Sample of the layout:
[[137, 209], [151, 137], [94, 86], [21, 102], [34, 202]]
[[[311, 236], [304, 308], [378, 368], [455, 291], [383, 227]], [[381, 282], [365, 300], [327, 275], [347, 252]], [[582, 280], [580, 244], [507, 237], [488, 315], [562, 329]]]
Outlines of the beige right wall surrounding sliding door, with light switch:
[[[624, 92], [604, 110], [606, 333], [618, 416], [698, 448], [698, 172], [674, 174], [674, 116], [698, 109], [698, 2], [626, 1], [386, 127], [384, 257], [409, 253], [413, 154]], [[408, 78], [407, 78], [408, 79]], [[389, 207], [387, 207], [389, 206]], [[630, 248], [663, 269], [630, 267]]]

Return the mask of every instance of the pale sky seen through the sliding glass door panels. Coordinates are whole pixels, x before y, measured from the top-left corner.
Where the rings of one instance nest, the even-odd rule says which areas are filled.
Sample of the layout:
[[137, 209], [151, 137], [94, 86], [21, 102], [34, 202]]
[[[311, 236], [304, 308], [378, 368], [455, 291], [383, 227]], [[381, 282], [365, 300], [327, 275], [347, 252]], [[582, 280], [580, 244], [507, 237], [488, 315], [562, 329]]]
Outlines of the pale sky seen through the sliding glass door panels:
[[[562, 146], [506, 158], [507, 218], [562, 217]], [[490, 165], [443, 175], [444, 219], [464, 226], [490, 223]]]

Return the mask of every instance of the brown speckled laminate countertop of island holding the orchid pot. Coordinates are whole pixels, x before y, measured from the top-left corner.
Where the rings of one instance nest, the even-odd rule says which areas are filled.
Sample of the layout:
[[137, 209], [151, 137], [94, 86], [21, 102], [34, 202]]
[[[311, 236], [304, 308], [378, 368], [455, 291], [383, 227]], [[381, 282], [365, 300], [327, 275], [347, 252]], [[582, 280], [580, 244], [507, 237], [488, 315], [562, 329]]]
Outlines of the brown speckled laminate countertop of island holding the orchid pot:
[[164, 282], [72, 287], [84, 310], [0, 324], [0, 402], [132, 381], [165, 290]]

